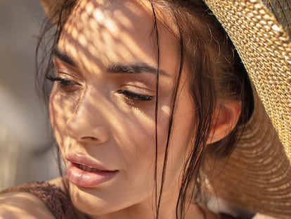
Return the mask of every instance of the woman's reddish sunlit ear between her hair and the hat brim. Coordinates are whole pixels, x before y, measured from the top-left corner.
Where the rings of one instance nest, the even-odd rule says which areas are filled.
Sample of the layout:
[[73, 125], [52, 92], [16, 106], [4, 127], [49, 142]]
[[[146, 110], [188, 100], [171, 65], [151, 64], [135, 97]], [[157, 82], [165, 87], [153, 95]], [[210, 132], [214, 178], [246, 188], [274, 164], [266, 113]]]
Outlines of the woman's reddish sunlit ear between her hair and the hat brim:
[[218, 142], [228, 135], [238, 123], [242, 111], [241, 101], [220, 103], [214, 111], [207, 144]]

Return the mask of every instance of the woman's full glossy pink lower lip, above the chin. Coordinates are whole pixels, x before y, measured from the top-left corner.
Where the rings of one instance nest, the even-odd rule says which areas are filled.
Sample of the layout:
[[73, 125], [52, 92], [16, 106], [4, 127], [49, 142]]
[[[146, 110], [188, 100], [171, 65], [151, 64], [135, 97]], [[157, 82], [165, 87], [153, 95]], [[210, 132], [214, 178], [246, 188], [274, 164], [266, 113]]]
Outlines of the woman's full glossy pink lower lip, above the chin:
[[77, 164], [67, 164], [67, 177], [70, 182], [79, 187], [96, 187], [99, 184], [108, 182], [117, 175], [118, 171], [89, 172], [77, 167]]

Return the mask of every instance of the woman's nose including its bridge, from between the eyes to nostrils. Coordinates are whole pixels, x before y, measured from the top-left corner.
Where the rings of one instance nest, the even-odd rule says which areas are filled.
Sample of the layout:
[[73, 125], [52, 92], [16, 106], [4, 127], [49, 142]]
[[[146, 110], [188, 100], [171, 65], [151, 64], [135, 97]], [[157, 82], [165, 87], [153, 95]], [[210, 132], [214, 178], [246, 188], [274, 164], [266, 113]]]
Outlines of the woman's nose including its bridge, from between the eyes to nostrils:
[[93, 94], [92, 90], [87, 89], [67, 118], [67, 134], [78, 142], [106, 142], [109, 130], [101, 109], [103, 104], [98, 104], [98, 101], [104, 101], [102, 99], [100, 94]]

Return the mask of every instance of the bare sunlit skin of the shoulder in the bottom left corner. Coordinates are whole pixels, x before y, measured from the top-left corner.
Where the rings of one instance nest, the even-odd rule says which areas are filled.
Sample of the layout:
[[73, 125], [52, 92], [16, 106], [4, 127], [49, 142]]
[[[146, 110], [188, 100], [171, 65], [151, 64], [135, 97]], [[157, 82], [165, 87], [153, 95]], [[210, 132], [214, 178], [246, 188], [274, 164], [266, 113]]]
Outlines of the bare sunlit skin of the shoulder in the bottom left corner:
[[8, 192], [0, 195], [0, 218], [54, 218], [44, 203], [27, 192]]

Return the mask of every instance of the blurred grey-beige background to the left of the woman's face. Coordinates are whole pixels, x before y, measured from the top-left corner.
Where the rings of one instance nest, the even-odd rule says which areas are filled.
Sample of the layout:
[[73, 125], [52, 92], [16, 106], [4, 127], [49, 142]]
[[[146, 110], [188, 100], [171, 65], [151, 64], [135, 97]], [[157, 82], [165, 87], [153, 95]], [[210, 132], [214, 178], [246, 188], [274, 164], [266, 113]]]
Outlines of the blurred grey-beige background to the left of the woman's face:
[[37, 0], [0, 0], [0, 190], [58, 175], [35, 89], [35, 36], [44, 16]]

